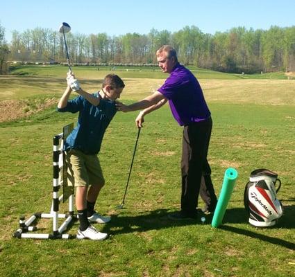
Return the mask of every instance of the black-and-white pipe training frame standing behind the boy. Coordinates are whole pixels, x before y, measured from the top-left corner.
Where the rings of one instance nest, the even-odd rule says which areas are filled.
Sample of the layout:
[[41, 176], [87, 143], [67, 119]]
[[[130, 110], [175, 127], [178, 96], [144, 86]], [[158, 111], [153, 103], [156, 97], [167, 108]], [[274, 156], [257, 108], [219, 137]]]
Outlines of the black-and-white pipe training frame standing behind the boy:
[[[53, 137], [53, 199], [49, 213], [35, 213], [25, 220], [24, 216], [19, 218], [19, 229], [15, 231], [15, 238], [33, 238], [33, 239], [71, 239], [76, 235], [63, 233], [67, 230], [70, 222], [77, 219], [74, 214], [74, 188], [67, 186], [67, 164], [65, 162], [65, 152], [63, 151], [63, 142], [73, 129], [71, 123], [63, 127], [63, 132]], [[63, 189], [59, 196], [60, 188]], [[60, 202], [69, 200], [68, 213], [59, 213]], [[40, 219], [51, 219], [53, 222], [52, 233], [36, 233], [36, 222]], [[64, 219], [62, 224], [58, 220]]]

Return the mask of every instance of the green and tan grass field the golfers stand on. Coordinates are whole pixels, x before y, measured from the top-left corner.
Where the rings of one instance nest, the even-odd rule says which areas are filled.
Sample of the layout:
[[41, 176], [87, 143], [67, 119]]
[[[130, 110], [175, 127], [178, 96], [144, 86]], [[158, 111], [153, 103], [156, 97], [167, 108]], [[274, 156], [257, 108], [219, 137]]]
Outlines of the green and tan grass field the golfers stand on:
[[[52, 137], [63, 125], [76, 122], [76, 115], [58, 114], [51, 106], [64, 89], [66, 69], [32, 70], [22, 67], [17, 69], [22, 75], [0, 76], [0, 105], [8, 107], [1, 109], [0, 123], [0, 276], [295, 275], [294, 80], [219, 78], [223, 73], [200, 78], [214, 122], [209, 160], [217, 195], [226, 168], [239, 173], [221, 228], [212, 229], [210, 216], [205, 224], [167, 218], [179, 208], [182, 129], [165, 106], [146, 116], [123, 210], [115, 206], [126, 186], [137, 113], [118, 113], [106, 132], [99, 154], [106, 186], [96, 208], [112, 215], [110, 224], [97, 226], [110, 234], [108, 240], [17, 240], [12, 233], [19, 215], [50, 211]], [[89, 91], [99, 89], [108, 73], [84, 68], [75, 72]], [[123, 72], [117, 73], [126, 82], [124, 102], [149, 95], [167, 77], [153, 71], [144, 76]], [[48, 105], [42, 106], [44, 102]], [[14, 119], [3, 112], [19, 109]], [[269, 168], [282, 181], [278, 199], [284, 215], [271, 229], [247, 223], [244, 187], [256, 168]], [[61, 211], [66, 209], [63, 204]], [[47, 233], [51, 221], [38, 226]], [[68, 233], [75, 234], [77, 228], [76, 222]]]

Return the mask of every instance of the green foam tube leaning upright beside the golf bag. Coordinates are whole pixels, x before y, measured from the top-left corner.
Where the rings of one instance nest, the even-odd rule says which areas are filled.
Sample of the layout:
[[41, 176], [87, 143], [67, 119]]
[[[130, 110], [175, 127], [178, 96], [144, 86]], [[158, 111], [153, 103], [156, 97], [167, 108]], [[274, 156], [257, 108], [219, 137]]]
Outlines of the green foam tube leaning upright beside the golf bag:
[[219, 195], [211, 224], [214, 228], [217, 228], [224, 219], [224, 214], [226, 213], [230, 196], [233, 193], [236, 179], [237, 170], [235, 170], [235, 168], [228, 168], [226, 172], [224, 172], [224, 183], [222, 184], [221, 193]]

